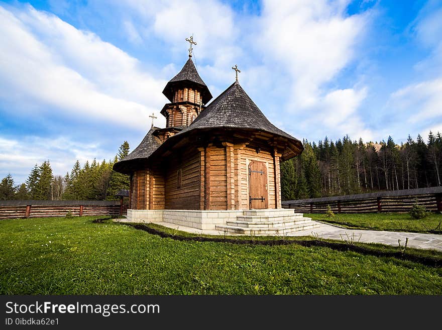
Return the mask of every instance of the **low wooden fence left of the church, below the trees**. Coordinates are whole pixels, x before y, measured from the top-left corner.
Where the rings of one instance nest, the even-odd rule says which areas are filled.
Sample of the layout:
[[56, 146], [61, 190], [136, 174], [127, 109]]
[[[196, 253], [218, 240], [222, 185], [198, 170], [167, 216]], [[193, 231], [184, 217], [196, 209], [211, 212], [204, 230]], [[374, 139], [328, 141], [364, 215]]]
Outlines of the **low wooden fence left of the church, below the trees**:
[[0, 200], [0, 219], [37, 216], [118, 215], [117, 200]]

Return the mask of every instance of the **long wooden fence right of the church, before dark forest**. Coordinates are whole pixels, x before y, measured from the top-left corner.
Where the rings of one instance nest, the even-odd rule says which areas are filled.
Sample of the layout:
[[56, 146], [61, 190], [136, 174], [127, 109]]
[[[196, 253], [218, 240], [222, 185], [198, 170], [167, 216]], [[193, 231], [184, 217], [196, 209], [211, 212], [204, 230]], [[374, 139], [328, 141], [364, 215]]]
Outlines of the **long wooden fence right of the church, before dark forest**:
[[407, 212], [416, 200], [428, 211], [442, 212], [442, 187], [286, 200], [282, 207], [302, 213], [325, 213], [327, 205], [335, 213]]

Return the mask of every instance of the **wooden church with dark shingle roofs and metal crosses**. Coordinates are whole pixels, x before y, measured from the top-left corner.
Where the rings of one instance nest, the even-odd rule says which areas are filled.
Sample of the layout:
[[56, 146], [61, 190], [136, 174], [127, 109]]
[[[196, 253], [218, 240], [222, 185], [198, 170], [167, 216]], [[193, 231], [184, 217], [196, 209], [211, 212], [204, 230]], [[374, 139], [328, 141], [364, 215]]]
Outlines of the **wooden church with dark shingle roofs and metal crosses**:
[[161, 110], [166, 127], [152, 124], [114, 165], [130, 175], [129, 209], [280, 209], [280, 161], [299, 155], [302, 143], [267, 120], [238, 82], [236, 66], [236, 81], [206, 106], [212, 95], [191, 50], [163, 90], [170, 100]]

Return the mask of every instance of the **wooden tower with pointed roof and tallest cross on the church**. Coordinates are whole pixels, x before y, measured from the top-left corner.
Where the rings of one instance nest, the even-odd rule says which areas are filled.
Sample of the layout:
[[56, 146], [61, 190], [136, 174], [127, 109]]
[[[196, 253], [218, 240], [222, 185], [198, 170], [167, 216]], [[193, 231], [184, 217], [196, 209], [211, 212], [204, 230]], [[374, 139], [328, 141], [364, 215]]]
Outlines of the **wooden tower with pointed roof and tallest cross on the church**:
[[163, 90], [171, 102], [166, 103], [161, 110], [161, 115], [166, 117], [166, 128], [189, 126], [203, 111], [204, 104], [212, 98], [192, 61], [192, 46], [196, 42], [193, 37], [186, 38], [186, 41], [190, 43], [189, 59]]

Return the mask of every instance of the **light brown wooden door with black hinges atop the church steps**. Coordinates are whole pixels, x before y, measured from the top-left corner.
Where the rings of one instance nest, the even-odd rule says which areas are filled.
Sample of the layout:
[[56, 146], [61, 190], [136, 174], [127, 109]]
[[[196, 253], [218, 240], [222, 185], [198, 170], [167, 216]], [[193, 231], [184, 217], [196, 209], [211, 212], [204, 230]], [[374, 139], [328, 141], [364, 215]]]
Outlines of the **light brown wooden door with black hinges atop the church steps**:
[[267, 168], [264, 162], [252, 160], [249, 165], [249, 206], [267, 208]]

